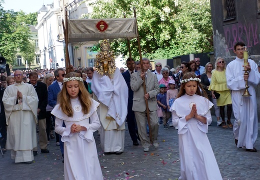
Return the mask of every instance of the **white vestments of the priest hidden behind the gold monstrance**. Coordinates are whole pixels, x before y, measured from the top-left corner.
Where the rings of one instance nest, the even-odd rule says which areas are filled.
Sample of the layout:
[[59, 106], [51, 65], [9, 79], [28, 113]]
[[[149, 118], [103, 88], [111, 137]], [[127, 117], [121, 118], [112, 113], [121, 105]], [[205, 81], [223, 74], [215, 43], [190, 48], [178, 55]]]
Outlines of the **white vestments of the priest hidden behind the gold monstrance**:
[[91, 90], [100, 102], [100, 145], [104, 152], [123, 152], [124, 121], [127, 115], [128, 87], [118, 68], [110, 78], [94, 71]]

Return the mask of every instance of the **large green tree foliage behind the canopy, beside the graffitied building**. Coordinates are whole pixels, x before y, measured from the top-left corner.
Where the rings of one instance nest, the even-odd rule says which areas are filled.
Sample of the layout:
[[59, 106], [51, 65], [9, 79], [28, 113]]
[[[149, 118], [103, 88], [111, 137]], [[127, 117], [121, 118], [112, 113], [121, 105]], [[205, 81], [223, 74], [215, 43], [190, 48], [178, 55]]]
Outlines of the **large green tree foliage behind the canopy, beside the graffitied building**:
[[[151, 59], [208, 52], [212, 48], [212, 26], [209, 0], [96, 0], [90, 18], [136, 18], [142, 56]], [[130, 42], [137, 59], [136, 39]], [[111, 43], [115, 54], [128, 56], [125, 39]]]

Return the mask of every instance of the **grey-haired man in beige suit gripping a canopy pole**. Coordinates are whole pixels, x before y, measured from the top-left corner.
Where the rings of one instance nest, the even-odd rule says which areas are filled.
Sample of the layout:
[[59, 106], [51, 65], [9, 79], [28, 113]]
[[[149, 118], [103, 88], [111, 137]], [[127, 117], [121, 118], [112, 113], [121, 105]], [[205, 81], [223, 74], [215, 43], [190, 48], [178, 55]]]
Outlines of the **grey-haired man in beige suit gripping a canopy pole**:
[[[134, 111], [138, 134], [141, 140], [143, 151], [149, 151], [150, 140], [147, 137], [146, 124], [147, 124], [147, 115], [146, 115], [146, 105], [145, 100], [148, 101], [149, 116], [150, 116], [150, 125], [151, 125], [151, 135], [152, 135], [152, 146], [158, 148], [157, 135], [158, 135], [158, 117], [157, 117], [157, 101], [156, 95], [159, 93], [159, 85], [157, 81], [157, 76], [150, 71], [147, 71], [149, 68], [149, 59], [142, 58], [143, 71], [139, 70], [138, 72], [131, 74], [131, 89], [133, 91], [133, 105], [132, 110]], [[143, 80], [142, 77], [145, 77], [146, 85], [146, 94], [144, 94], [143, 89]]]

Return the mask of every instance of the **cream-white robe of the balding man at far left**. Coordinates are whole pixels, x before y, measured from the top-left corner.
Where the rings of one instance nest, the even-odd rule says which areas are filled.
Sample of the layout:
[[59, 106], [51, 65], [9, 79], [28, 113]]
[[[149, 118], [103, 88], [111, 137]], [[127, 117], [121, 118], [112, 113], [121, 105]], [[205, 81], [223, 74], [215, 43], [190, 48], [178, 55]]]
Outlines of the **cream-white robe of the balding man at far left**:
[[[17, 103], [17, 91], [22, 94], [21, 103]], [[38, 96], [34, 87], [24, 82], [7, 86], [2, 102], [8, 125], [6, 149], [11, 150], [15, 163], [32, 161], [32, 149], [37, 147]]]

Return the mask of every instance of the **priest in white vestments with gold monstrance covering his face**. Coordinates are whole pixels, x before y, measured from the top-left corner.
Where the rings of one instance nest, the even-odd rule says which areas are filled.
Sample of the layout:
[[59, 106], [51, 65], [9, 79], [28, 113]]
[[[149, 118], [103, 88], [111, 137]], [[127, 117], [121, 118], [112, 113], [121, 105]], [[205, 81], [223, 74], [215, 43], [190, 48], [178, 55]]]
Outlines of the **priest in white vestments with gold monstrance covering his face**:
[[124, 149], [124, 129], [127, 115], [128, 87], [107, 40], [100, 44], [101, 51], [95, 57], [95, 71], [91, 90], [100, 103], [97, 110], [101, 127], [100, 144], [103, 152], [120, 155]]

